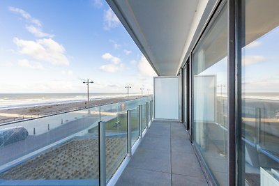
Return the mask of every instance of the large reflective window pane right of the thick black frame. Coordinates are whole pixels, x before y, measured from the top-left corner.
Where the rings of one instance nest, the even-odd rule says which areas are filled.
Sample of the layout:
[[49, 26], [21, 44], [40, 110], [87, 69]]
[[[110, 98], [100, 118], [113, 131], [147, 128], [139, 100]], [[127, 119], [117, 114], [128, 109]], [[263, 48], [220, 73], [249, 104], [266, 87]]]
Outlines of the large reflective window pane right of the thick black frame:
[[242, 185], [276, 185], [276, 175], [279, 183], [278, 8], [273, 0], [243, 8]]

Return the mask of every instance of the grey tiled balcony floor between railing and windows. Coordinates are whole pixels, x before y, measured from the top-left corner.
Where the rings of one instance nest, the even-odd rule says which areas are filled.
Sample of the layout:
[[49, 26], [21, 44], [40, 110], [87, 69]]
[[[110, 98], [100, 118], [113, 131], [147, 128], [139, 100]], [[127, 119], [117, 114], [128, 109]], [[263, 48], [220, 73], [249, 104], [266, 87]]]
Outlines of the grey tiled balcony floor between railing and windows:
[[153, 121], [116, 185], [207, 186], [181, 123]]

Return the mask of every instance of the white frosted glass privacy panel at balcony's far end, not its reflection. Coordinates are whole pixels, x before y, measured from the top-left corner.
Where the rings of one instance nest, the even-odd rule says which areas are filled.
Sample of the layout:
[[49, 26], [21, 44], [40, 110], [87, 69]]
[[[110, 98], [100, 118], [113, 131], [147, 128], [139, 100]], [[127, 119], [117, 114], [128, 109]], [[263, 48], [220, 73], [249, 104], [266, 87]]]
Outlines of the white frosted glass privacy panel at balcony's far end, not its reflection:
[[154, 77], [156, 119], [179, 119], [179, 78]]

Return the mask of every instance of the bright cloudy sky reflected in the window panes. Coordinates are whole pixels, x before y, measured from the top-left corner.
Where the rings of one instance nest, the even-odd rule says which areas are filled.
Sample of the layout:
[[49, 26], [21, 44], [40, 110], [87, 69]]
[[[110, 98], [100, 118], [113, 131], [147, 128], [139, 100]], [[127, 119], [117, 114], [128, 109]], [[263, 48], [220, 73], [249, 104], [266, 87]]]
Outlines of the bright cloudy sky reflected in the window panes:
[[[246, 31], [246, 37], [253, 32]], [[248, 43], [241, 51], [242, 93], [278, 93], [279, 86], [279, 26]], [[220, 84], [227, 86], [227, 57], [199, 75], [216, 75], [217, 91]], [[226, 88], [227, 89], [227, 88]], [[227, 91], [223, 88], [223, 92]]]

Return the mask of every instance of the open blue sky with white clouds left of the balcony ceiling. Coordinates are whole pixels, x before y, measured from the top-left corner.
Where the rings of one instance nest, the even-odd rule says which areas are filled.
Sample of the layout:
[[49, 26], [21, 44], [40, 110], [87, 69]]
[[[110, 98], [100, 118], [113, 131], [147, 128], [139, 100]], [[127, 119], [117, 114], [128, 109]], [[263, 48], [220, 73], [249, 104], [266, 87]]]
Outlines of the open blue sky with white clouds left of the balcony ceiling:
[[101, 0], [0, 1], [0, 93], [139, 93], [156, 73]]

